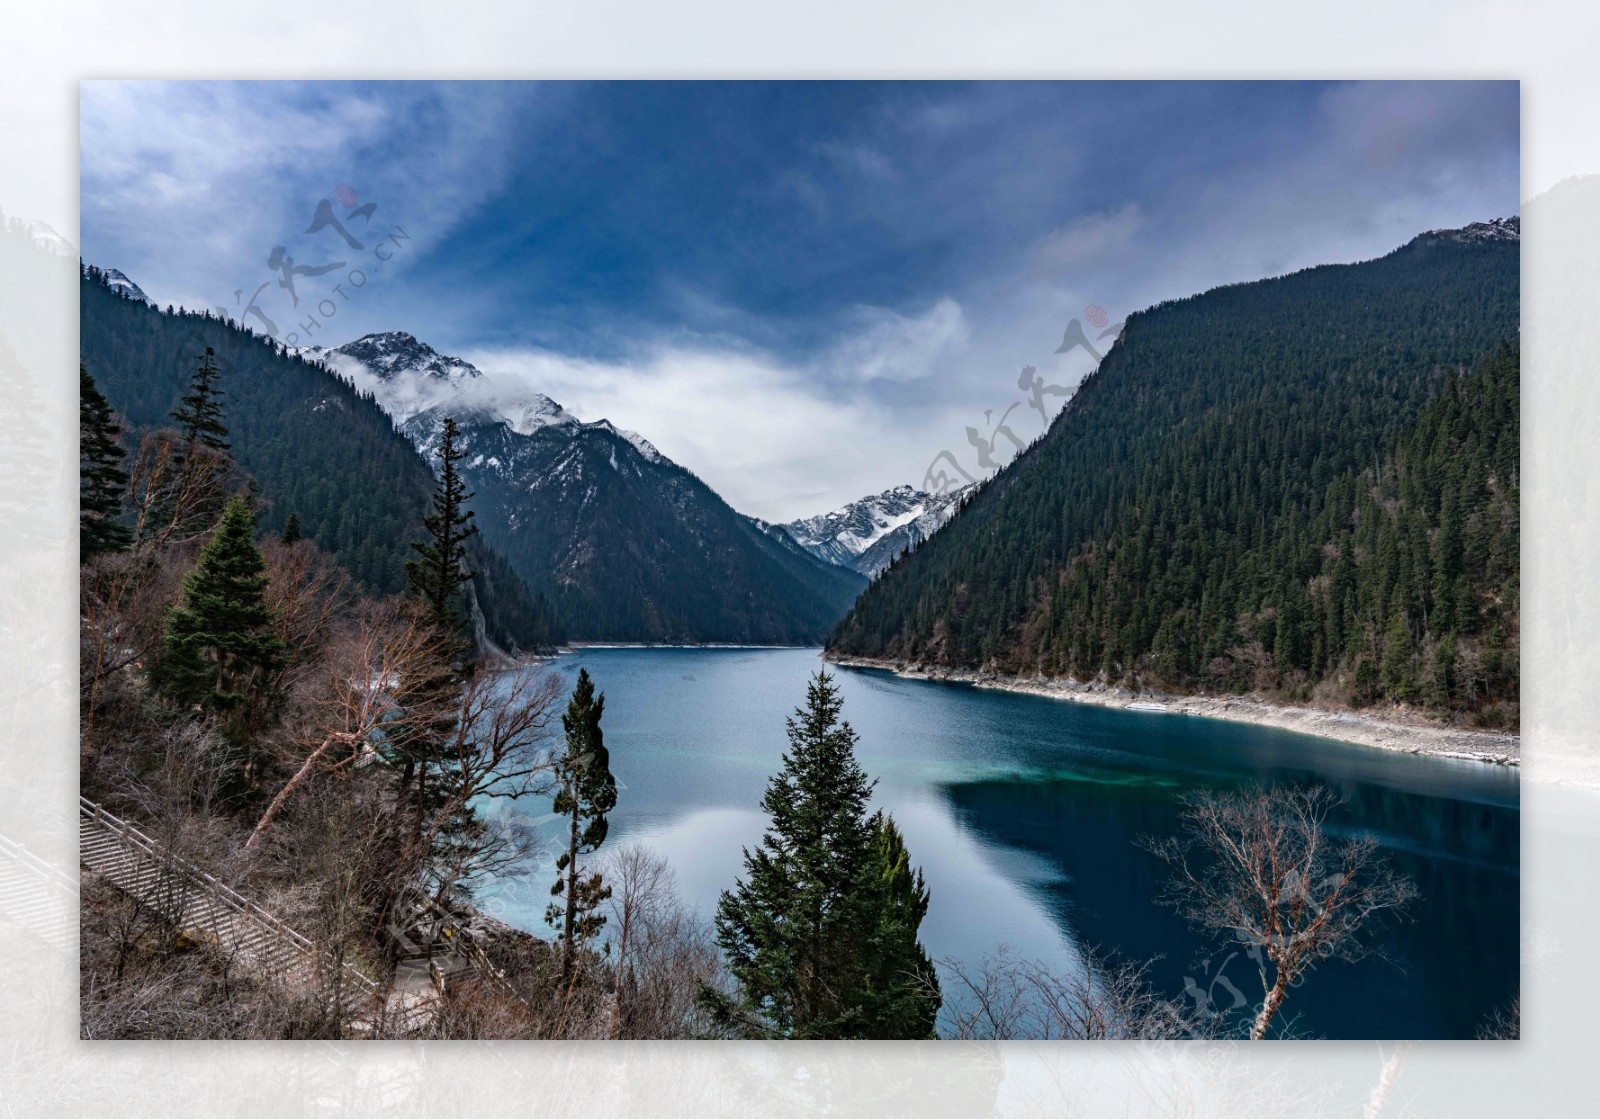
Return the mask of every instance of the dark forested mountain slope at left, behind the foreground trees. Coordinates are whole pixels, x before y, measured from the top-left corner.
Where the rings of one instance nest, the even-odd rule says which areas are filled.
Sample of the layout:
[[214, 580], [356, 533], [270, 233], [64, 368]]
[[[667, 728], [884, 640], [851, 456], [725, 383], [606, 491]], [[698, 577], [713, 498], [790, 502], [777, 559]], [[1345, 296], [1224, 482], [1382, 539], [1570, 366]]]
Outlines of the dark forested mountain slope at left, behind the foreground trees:
[[[205, 312], [163, 312], [114, 288], [99, 269], [80, 282], [80, 354], [112, 406], [138, 427], [170, 426], [197, 355], [213, 347], [232, 454], [259, 483], [261, 525], [301, 533], [374, 594], [405, 589], [410, 542], [434, 491], [429, 464], [370, 395], [288, 355], [269, 338]], [[563, 638], [549, 605], [493, 547], [472, 546], [486, 637], [507, 648]]]

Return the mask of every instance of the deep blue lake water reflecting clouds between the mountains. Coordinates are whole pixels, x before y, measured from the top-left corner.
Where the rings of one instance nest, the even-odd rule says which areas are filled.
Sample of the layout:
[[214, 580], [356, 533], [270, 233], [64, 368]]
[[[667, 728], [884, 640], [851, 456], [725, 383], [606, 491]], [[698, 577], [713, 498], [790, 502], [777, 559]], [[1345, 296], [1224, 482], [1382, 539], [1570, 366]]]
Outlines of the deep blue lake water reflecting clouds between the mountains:
[[[805, 699], [814, 650], [582, 650], [606, 694], [619, 803], [608, 848], [667, 856], [707, 915], [758, 842], [760, 797]], [[1000, 944], [1075, 966], [1093, 946], [1155, 960], [1171, 995], [1259, 1000], [1254, 965], [1229, 958], [1155, 896], [1163, 866], [1134, 846], [1178, 832], [1176, 797], [1251, 781], [1323, 782], [1349, 798], [1331, 824], [1378, 837], [1421, 899], [1384, 934], [1389, 960], [1322, 965], [1280, 1018], [1325, 1038], [1470, 1038], [1517, 992], [1518, 778], [1221, 720], [1128, 712], [934, 682], [835, 670], [875, 800], [902, 826], [931, 907], [934, 958], [976, 962]], [[538, 818], [546, 806], [522, 806]], [[488, 909], [539, 931], [547, 866], [494, 883]], [[1230, 989], [1232, 986], [1232, 989]]]

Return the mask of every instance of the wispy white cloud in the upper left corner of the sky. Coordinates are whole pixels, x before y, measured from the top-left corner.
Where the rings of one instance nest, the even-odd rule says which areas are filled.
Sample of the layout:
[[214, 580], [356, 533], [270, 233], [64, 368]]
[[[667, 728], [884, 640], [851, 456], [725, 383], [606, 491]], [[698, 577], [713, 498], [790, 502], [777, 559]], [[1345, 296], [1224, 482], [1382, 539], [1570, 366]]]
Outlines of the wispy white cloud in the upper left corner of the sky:
[[[379, 96], [357, 83], [85, 82], [85, 251], [138, 275], [158, 304], [230, 306], [235, 288], [274, 275], [274, 245], [317, 264], [346, 253], [331, 230], [306, 230], [317, 202], [352, 184], [378, 205], [371, 229], [414, 238], [398, 270], [499, 189], [506, 138], [536, 101], [531, 83], [398, 83]], [[106, 245], [125, 259], [99, 259]]]

